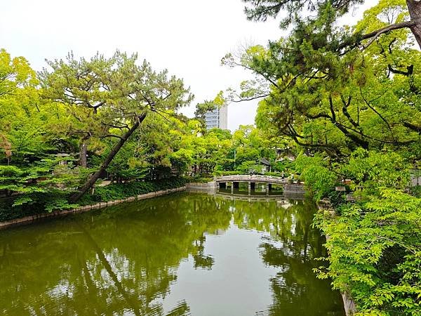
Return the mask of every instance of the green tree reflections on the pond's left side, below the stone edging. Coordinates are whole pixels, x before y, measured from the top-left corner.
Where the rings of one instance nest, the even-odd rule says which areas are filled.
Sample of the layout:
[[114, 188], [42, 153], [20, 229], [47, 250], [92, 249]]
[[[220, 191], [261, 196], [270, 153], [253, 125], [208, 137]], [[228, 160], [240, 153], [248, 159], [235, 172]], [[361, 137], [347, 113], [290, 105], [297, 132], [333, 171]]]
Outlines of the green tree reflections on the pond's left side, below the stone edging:
[[[0, 235], [0, 312], [162, 315], [182, 258], [211, 268], [205, 232], [231, 214], [212, 197], [163, 197]], [[169, 315], [184, 315], [180, 302]]]

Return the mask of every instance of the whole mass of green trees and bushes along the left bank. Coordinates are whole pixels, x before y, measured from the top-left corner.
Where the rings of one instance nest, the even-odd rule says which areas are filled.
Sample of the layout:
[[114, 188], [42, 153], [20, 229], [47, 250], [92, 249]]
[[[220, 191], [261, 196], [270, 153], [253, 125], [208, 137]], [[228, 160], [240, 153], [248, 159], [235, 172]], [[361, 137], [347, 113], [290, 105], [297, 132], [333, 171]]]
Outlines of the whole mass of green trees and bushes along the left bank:
[[[178, 114], [189, 89], [137, 58], [69, 54], [36, 74], [0, 51], [0, 220], [275, 163], [275, 144], [254, 126], [206, 131], [201, 116], [218, 100], [197, 105], [194, 119]], [[98, 179], [111, 185], [95, 187]]]

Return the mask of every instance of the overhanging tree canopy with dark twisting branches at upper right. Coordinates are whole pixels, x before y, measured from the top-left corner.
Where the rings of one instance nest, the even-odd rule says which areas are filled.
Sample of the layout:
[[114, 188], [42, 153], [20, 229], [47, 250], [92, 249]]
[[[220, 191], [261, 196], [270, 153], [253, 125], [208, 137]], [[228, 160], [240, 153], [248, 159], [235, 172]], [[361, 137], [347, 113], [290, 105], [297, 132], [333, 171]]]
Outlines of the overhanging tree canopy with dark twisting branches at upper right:
[[369, 32], [408, 14], [403, 1], [388, 3], [380, 1], [348, 28], [335, 27], [338, 13], [326, 5], [288, 38], [267, 48], [252, 46], [241, 58], [228, 54], [225, 64], [242, 65], [261, 78], [258, 88], [241, 85], [240, 93], [266, 96], [258, 126], [338, 159], [357, 147], [408, 148], [419, 156], [421, 53], [406, 44], [408, 31], [386, 34], [363, 51], [335, 48], [343, 34]]

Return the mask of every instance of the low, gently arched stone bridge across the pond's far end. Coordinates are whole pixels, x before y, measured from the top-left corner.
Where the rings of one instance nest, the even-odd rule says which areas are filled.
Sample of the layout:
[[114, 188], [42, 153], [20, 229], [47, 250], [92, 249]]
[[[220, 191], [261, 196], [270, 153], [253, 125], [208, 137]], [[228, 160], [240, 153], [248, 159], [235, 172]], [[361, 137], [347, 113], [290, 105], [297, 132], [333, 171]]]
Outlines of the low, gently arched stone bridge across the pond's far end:
[[272, 185], [282, 185], [284, 191], [304, 192], [303, 187], [300, 183], [288, 183], [288, 181], [285, 178], [281, 177], [236, 174], [232, 176], [221, 176], [215, 178], [215, 183], [219, 185], [220, 189], [225, 189], [227, 188], [227, 183], [232, 183], [232, 192], [234, 192], [234, 189], [239, 188], [240, 182], [248, 183], [249, 195], [250, 192], [255, 190], [256, 183], [267, 184], [267, 195], [269, 195], [269, 192], [272, 191]]

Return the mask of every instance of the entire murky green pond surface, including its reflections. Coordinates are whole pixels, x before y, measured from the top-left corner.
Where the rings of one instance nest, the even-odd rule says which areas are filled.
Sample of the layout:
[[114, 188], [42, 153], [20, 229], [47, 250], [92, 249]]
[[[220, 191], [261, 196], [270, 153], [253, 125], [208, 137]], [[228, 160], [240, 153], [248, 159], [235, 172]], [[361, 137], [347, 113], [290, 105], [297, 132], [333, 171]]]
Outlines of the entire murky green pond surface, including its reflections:
[[0, 315], [345, 315], [313, 215], [183, 192], [0, 231]]

